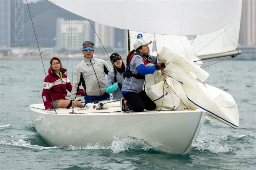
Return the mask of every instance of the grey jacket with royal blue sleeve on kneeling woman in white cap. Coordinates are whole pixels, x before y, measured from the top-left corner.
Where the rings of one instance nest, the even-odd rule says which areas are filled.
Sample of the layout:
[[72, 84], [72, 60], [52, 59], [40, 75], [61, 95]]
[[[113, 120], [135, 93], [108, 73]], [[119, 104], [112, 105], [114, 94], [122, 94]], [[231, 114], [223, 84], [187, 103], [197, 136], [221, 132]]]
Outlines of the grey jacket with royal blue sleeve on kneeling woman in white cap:
[[[154, 64], [157, 64], [156, 56], [152, 56], [149, 54], [142, 56], [141, 54], [135, 53], [126, 69], [129, 69], [132, 72], [132, 74], [138, 74], [138, 73], [141, 75], [153, 74], [156, 71], [156, 67], [145, 66], [142, 57], [144, 57], [144, 59], [148, 61], [151, 61]], [[143, 89], [143, 85], [144, 85], [144, 79], [137, 79], [135, 77], [129, 77], [129, 78], [125, 77], [121, 93], [127, 93], [127, 92], [140, 93], [141, 90]]]

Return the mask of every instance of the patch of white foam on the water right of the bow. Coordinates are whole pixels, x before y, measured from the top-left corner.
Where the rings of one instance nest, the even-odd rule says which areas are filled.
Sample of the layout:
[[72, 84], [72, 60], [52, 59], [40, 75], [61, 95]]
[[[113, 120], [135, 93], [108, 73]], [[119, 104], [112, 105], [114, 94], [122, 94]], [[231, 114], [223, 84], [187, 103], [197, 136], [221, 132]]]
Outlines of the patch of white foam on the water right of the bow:
[[230, 147], [229, 145], [223, 145], [221, 142], [222, 140], [227, 140], [227, 138], [225, 138], [223, 134], [215, 138], [213, 141], [207, 143], [194, 143], [192, 147], [196, 147], [196, 150], [207, 150], [212, 153], [222, 153], [231, 151], [232, 147]]

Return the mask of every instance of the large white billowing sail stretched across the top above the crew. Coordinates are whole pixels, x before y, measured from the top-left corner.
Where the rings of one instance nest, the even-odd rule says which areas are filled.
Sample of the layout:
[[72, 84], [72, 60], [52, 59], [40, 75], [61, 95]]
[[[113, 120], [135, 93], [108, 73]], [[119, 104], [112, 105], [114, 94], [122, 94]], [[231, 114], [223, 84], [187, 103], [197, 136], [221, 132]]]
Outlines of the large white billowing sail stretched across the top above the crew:
[[201, 35], [220, 30], [235, 18], [239, 5], [236, 0], [48, 1], [100, 24], [163, 35]]

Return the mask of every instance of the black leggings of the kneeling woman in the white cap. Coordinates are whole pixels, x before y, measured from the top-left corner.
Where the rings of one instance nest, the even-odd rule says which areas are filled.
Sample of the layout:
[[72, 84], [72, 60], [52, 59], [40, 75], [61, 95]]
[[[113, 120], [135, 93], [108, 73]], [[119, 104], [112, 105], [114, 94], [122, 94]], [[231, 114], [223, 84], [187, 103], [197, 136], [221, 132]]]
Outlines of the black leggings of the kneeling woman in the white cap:
[[156, 109], [156, 104], [147, 96], [144, 90], [142, 90], [140, 93], [123, 93], [123, 96], [127, 100], [126, 104], [129, 106], [129, 110], [133, 110], [135, 112], [142, 112], [144, 109]]

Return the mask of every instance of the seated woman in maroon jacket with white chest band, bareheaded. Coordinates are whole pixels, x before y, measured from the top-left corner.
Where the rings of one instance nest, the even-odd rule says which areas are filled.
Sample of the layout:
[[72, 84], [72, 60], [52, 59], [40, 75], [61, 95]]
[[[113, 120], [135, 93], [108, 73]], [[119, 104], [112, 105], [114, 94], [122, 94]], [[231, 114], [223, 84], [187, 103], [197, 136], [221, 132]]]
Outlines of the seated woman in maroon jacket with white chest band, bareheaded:
[[[51, 67], [48, 70], [49, 74], [44, 79], [42, 93], [44, 106], [47, 110], [66, 107], [70, 102], [70, 100], [65, 99], [68, 93], [67, 90], [69, 92], [72, 90], [72, 85], [68, 80], [68, 76], [65, 74], [67, 69], [62, 68], [60, 59], [52, 57], [50, 63]], [[77, 95], [84, 96], [84, 90], [78, 90]], [[75, 101], [74, 106], [83, 107], [84, 104]]]

